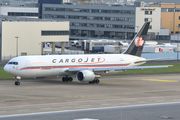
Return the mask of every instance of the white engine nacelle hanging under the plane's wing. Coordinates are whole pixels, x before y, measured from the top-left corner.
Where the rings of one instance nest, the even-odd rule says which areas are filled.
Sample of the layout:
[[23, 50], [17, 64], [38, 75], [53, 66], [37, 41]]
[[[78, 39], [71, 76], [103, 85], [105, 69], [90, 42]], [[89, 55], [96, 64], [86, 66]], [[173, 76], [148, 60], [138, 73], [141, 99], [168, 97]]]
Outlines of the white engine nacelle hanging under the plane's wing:
[[84, 82], [84, 81], [92, 81], [94, 80], [96, 75], [94, 72], [90, 70], [81, 70], [76, 74], [76, 79], [78, 81]]

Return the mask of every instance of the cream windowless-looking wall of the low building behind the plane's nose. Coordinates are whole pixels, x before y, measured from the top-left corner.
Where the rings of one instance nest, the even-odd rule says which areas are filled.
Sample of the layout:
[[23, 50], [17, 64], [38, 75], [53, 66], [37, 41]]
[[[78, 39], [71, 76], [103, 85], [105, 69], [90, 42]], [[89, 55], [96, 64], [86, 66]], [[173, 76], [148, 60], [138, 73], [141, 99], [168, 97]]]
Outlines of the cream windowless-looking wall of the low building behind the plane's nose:
[[18, 56], [40, 55], [42, 42], [67, 42], [69, 35], [42, 36], [41, 31], [69, 31], [69, 22], [10, 22], [2, 21], [2, 58], [16, 56], [18, 38]]

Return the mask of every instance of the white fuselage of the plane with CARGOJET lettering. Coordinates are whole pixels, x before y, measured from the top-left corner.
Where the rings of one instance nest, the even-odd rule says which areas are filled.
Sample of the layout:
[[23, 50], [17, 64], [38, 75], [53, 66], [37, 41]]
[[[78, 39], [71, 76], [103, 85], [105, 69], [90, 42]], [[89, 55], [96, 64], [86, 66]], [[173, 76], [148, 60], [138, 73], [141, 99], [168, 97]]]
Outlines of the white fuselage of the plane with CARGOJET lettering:
[[133, 67], [143, 64], [134, 64], [140, 60], [145, 59], [128, 54], [21, 56], [11, 59], [4, 70], [13, 76], [45, 77], [69, 75], [66, 70], [75, 68]]

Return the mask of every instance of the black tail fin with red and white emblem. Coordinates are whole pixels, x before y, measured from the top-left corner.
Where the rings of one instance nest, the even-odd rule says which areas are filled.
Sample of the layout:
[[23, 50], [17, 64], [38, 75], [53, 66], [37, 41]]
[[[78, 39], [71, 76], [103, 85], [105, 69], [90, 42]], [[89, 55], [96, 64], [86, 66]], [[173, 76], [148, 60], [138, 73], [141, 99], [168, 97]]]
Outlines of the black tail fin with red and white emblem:
[[135, 35], [128, 48], [123, 52], [123, 54], [130, 54], [135, 56], [141, 56], [144, 40], [142, 35], [147, 35], [147, 31], [149, 29], [150, 22], [145, 22], [138, 33]]

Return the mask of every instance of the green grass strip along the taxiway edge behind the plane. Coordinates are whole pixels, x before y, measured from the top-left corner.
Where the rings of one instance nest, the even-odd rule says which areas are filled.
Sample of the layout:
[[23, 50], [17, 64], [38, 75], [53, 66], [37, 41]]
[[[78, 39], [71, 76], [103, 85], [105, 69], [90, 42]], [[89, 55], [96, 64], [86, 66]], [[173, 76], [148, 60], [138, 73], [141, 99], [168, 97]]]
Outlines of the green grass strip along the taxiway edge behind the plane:
[[[148, 74], [148, 73], [178, 73], [180, 72], [180, 63], [173, 64], [151, 64], [144, 66], [157, 66], [157, 65], [174, 65], [169, 68], [155, 68], [155, 69], [144, 69], [144, 70], [128, 70], [125, 72], [119, 72], [115, 74]], [[13, 76], [4, 72], [3, 67], [0, 67], [0, 79], [13, 79]]]

